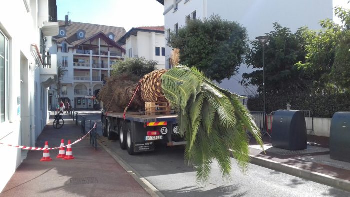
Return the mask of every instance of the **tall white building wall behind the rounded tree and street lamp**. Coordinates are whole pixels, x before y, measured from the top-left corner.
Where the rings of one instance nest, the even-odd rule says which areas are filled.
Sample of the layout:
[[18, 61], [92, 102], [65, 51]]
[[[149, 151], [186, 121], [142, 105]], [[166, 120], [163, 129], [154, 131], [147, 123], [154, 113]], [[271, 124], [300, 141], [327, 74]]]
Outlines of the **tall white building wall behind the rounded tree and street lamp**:
[[[165, 0], [165, 32], [167, 29], [174, 30], [174, 25], [178, 27], [185, 25], [185, 16], [196, 11], [197, 18], [208, 18], [212, 14], [218, 14], [222, 19], [236, 21], [247, 28], [249, 40], [264, 35], [273, 30], [273, 22], [278, 22], [282, 26], [289, 27], [292, 32], [302, 26], [310, 29], [320, 29], [319, 21], [322, 19], [332, 19], [332, 0], [181, 0], [175, 11], [173, 0]], [[166, 46], [166, 59], [170, 58], [171, 48]], [[168, 67], [166, 61], [166, 67]], [[231, 80], [223, 80], [220, 87], [228, 89], [237, 94], [255, 93], [253, 90], [245, 89], [238, 81], [242, 79], [244, 72], [250, 73], [253, 70], [242, 64], [239, 74]]]

